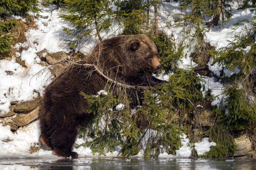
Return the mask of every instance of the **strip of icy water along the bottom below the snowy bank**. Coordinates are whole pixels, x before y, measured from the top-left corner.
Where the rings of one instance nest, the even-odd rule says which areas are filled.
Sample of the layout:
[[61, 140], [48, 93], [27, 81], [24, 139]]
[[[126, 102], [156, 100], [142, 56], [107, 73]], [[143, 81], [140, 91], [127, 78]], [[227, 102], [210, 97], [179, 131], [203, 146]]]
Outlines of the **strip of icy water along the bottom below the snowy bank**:
[[256, 158], [236, 157], [225, 159], [0, 159], [2, 170], [84, 170], [84, 169], [172, 169], [172, 170], [254, 170]]

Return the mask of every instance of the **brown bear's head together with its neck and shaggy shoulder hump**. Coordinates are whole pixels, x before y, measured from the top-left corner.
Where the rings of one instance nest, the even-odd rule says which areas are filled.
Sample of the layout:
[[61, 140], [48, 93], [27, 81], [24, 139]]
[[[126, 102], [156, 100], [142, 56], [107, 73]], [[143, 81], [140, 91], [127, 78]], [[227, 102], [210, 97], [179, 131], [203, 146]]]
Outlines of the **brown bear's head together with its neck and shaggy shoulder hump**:
[[[101, 41], [91, 56], [106, 74], [132, 75], [147, 69], [158, 72], [162, 67], [155, 43], [146, 35], [120, 35]], [[120, 67], [117, 67], [120, 66]], [[125, 66], [125, 67], [124, 67]], [[111, 73], [111, 71], [114, 71]]]

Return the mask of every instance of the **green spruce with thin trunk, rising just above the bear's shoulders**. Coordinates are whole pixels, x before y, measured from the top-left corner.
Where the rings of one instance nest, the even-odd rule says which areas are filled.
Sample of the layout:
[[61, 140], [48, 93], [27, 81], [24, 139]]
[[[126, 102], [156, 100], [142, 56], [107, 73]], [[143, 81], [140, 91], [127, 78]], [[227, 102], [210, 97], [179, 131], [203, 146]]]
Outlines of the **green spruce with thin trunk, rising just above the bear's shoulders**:
[[60, 17], [76, 27], [76, 29], [64, 29], [68, 35], [76, 37], [75, 41], [70, 41], [70, 46], [92, 37], [97, 37], [101, 41], [100, 33], [108, 32], [115, 19], [112, 9], [108, 6], [111, 2], [108, 0], [65, 0], [65, 3], [68, 14], [60, 14]]

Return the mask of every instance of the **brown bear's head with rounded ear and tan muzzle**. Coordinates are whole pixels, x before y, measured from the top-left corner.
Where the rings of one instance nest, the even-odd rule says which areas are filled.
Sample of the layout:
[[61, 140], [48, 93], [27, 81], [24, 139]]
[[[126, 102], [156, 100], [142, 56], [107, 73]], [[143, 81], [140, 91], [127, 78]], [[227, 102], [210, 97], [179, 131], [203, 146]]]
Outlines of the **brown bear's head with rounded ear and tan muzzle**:
[[126, 48], [128, 57], [132, 60], [132, 67], [136, 71], [151, 69], [158, 72], [162, 67], [157, 58], [156, 45], [146, 35], [131, 36]]

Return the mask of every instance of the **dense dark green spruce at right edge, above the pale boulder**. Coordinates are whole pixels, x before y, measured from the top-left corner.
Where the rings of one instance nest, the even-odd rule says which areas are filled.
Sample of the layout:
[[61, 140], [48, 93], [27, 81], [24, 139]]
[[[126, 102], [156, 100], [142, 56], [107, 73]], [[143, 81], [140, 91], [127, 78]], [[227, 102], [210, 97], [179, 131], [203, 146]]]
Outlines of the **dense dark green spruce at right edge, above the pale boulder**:
[[256, 105], [244, 89], [236, 85], [226, 87], [220, 106], [215, 110], [220, 123], [228, 130], [248, 130], [256, 122]]

